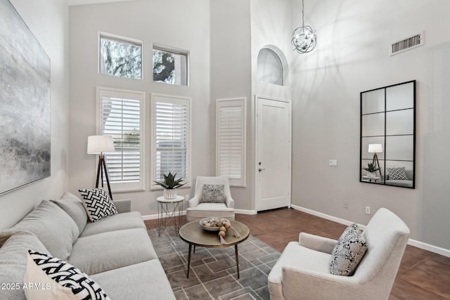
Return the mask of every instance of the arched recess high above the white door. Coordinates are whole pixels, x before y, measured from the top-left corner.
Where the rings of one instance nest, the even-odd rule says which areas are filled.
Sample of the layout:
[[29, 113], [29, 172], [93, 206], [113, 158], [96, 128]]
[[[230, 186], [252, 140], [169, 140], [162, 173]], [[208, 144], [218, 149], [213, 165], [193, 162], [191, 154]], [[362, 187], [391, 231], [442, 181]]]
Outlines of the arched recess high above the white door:
[[262, 48], [258, 53], [257, 67], [259, 81], [278, 86], [284, 85], [283, 63], [275, 51]]

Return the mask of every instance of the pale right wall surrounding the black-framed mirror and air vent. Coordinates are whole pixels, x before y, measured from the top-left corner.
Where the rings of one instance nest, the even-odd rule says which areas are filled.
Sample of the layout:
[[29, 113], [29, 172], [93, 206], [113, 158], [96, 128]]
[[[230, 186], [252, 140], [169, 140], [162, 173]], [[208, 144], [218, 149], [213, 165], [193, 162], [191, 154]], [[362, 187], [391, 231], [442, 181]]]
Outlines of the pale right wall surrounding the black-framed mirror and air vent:
[[[450, 249], [449, 13], [446, 0], [305, 1], [318, 46], [293, 58], [293, 204], [364, 224], [364, 207], [387, 207], [412, 239]], [[389, 56], [391, 42], [422, 30], [425, 46]], [[359, 93], [412, 79], [416, 189], [359, 183]]]

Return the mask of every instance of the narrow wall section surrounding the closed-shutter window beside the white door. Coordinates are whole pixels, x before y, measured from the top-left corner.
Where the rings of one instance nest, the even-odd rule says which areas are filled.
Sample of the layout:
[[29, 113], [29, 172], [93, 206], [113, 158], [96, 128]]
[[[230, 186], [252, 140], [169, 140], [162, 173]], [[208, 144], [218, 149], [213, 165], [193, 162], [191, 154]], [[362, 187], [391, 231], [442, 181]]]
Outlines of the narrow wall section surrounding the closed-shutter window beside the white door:
[[[251, 118], [250, 0], [211, 1], [211, 105], [214, 116], [217, 98], [247, 98], [247, 128]], [[248, 130], [248, 132], [250, 132]], [[254, 179], [252, 135], [247, 134], [246, 187], [232, 187], [235, 208], [252, 209]], [[215, 150], [215, 148], [214, 148]], [[215, 164], [215, 152], [214, 160]]]

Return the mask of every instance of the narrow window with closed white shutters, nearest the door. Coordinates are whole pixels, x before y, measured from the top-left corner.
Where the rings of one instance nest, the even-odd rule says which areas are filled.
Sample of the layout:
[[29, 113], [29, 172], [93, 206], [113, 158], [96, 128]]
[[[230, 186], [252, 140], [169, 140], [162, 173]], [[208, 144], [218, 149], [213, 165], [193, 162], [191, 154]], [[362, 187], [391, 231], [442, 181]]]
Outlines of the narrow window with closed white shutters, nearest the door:
[[245, 186], [246, 98], [216, 101], [216, 174]]

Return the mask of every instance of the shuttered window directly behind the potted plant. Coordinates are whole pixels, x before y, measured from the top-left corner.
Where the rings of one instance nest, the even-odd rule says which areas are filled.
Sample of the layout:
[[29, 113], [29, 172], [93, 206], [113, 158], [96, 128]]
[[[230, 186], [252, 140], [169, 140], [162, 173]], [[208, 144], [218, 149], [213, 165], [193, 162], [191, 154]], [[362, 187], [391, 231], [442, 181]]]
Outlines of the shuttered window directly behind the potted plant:
[[152, 182], [162, 181], [170, 171], [190, 185], [191, 99], [160, 94], [151, 98]]

